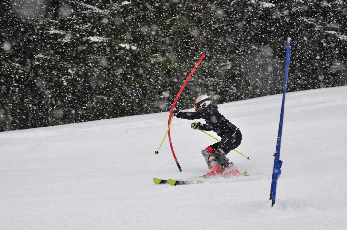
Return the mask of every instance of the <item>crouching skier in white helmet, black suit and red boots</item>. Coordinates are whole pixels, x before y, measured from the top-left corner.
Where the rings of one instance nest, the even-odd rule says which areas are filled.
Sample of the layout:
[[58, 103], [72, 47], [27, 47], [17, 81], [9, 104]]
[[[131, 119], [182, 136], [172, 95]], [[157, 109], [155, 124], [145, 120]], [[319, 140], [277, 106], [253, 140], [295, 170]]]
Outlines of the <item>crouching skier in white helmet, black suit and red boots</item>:
[[201, 151], [211, 170], [203, 177], [240, 176], [241, 174], [234, 166], [234, 163], [226, 156], [231, 150], [240, 145], [242, 140], [240, 130], [218, 112], [218, 106], [212, 104], [212, 100], [208, 95], [197, 97], [194, 101], [194, 109], [196, 112], [180, 112], [179, 109], [174, 108], [172, 116], [187, 120], [203, 118], [206, 124], [194, 122], [191, 126], [192, 129], [214, 131], [222, 138], [220, 142], [214, 143]]

